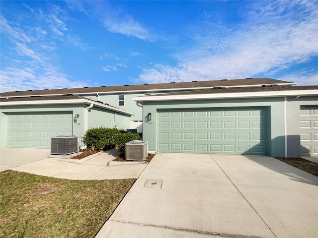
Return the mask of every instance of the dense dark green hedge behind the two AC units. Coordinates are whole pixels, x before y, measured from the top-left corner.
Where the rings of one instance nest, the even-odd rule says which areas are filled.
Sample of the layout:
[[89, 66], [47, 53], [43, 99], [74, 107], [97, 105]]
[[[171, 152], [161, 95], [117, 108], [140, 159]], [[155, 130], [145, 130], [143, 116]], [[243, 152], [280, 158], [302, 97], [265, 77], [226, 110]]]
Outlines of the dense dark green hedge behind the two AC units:
[[139, 133], [119, 130], [117, 128], [90, 128], [84, 135], [87, 147], [91, 150], [115, 150], [124, 152], [125, 144], [131, 140], [142, 140]]

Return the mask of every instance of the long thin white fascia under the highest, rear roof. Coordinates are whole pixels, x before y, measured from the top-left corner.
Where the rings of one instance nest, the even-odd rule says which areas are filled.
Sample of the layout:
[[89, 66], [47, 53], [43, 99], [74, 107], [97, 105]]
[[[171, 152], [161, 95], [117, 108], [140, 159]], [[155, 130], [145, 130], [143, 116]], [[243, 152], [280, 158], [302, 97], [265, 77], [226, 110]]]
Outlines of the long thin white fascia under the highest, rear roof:
[[[215, 87], [225, 87], [225, 88], [243, 88], [243, 87], [261, 87], [262, 85], [295, 85], [296, 83], [266, 83], [266, 84], [250, 84], [250, 85], [234, 85], [234, 86], [213, 86], [213, 87], [195, 87], [195, 88], [160, 88], [160, 89], [146, 89], [146, 90], [127, 90], [127, 91], [109, 91], [109, 92], [88, 92], [88, 93], [72, 93], [73, 95], [96, 95], [99, 96], [103, 94], [125, 94], [125, 93], [149, 93], [149, 92], [160, 92], [160, 91], [192, 91], [192, 90], [203, 90], [203, 89], [213, 89]], [[61, 96], [65, 93], [60, 94], [36, 94], [32, 96]], [[8, 96], [7, 98], [19, 98], [19, 97], [28, 97], [30, 95], [25, 96]], [[6, 98], [6, 97], [1, 97]]]

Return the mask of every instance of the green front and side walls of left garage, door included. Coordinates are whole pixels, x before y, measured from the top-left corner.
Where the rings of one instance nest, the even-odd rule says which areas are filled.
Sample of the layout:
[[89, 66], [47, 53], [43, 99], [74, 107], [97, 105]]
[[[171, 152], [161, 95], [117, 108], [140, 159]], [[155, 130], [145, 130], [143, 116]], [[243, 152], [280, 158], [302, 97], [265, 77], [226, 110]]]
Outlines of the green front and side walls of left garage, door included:
[[[56, 135], [83, 136], [86, 127], [130, 128], [130, 116], [87, 104], [1, 106], [0, 147], [49, 148]], [[74, 120], [74, 115], [79, 118]], [[39, 137], [36, 140], [36, 137]], [[44, 139], [46, 138], [46, 139]]]

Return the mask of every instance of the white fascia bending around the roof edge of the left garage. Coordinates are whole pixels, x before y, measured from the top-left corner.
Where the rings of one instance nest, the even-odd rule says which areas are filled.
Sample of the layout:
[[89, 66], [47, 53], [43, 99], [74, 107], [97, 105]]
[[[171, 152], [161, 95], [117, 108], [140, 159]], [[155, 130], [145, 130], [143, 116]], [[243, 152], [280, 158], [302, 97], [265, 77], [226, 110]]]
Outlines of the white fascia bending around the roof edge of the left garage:
[[100, 107], [100, 108], [106, 108], [110, 111], [114, 111], [114, 112], [120, 112], [123, 114], [128, 114], [131, 116], [135, 116], [134, 113], [128, 112], [126, 110], [122, 110], [122, 109], [117, 109], [117, 108], [113, 108], [109, 105], [105, 105], [102, 103], [98, 103], [98, 102], [94, 102], [94, 101], [90, 101], [90, 100], [86, 100], [86, 99], [69, 99], [69, 100], [42, 100], [42, 101], [17, 101], [17, 102], [1, 102], [0, 105], [1, 106], [21, 106], [21, 105], [48, 105], [48, 104], [93, 104], [96, 107]]

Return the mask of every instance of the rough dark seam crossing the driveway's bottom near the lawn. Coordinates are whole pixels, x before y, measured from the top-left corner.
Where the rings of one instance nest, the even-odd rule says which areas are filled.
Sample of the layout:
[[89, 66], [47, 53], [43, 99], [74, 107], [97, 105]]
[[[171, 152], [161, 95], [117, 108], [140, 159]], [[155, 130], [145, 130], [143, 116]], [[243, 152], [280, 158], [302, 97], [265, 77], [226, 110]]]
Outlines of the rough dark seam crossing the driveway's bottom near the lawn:
[[186, 228], [174, 228], [174, 227], [168, 227], [168, 226], [159, 226], [159, 225], [153, 225], [153, 224], [143, 224], [143, 223], [135, 223], [135, 222], [123, 222], [123, 221], [114, 221], [109, 220], [112, 222], [119, 222], [124, 224], [133, 224], [133, 225], [139, 225], [139, 226], [146, 226], [146, 227], [156, 227], [156, 228], [163, 228], [163, 229], [170, 229], [175, 231], [184, 231], [184, 232], [193, 232], [197, 234], [203, 234], [203, 235], [212, 235], [212, 236], [222, 236], [225, 238], [261, 238], [261, 237], [248, 237], [244, 235], [231, 235], [231, 234], [223, 234], [218, 232], [206, 232], [206, 231], [199, 231], [199, 230], [192, 230], [192, 229], [186, 229]]

